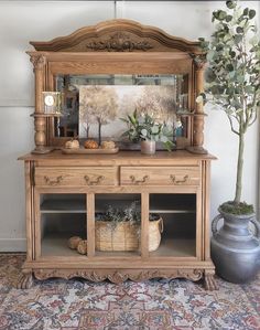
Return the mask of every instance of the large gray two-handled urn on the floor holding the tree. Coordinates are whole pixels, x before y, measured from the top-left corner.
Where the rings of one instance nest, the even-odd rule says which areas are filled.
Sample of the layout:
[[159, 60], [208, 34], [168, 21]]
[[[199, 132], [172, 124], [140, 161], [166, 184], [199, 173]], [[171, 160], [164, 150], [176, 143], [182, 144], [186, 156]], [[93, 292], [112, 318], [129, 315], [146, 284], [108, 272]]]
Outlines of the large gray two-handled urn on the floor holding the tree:
[[[254, 214], [234, 215], [218, 209], [212, 224], [212, 258], [216, 273], [231, 283], [246, 283], [252, 279], [260, 267], [260, 225]], [[217, 230], [217, 223], [224, 225]], [[249, 232], [249, 222], [256, 227], [256, 236]]]

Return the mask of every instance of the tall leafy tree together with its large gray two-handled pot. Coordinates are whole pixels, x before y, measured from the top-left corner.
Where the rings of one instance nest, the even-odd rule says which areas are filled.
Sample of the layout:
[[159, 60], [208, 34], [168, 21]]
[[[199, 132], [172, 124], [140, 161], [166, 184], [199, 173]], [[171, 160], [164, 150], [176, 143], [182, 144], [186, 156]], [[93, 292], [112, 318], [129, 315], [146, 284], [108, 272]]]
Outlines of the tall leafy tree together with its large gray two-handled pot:
[[[226, 1], [226, 10], [213, 12], [212, 41], [201, 40], [207, 53], [206, 93], [197, 102], [212, 102], [223, 109], [238, 138], [235, 198], [219, 206], [213, 221], [212, 257], [217, 273], [234, 283], [251, 279], [259, 268], [260, 227], [253, 206], [241, 201], [245, 135], [256, 123], [260, 107], [260, 42], [253, 22], [256, 11]], [[224, 226], [217, 223], [224, 219]], [[253, 237], [248, 224], [256, 226]]]

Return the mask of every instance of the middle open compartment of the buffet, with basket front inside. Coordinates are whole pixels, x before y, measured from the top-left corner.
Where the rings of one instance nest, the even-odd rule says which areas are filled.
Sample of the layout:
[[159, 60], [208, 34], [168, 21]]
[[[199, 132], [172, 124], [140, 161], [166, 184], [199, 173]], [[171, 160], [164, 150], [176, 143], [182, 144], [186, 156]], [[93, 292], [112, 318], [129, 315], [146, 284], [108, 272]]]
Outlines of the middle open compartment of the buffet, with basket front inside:
[[[129, 219], [132, 219], [132, 221], [129, 221]], [[138, 222], [136, 222], [137, 219]], [[140, 246], [141, 194], [96, 194], [95, 256], [140, 256]]]

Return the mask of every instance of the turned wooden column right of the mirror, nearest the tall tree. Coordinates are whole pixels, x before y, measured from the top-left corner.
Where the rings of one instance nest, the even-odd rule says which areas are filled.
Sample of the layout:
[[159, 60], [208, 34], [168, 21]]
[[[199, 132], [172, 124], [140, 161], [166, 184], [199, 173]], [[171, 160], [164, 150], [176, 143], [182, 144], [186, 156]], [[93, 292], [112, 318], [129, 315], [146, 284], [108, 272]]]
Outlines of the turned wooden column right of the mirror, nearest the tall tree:
[[[195, 98], [204, 92], [204, 55], [194, 55], [194, 67], [195, 67]], [[193, 146], [188, 147], [188, 151], [194, 153], [207, 153], [204, 149], [204, 107], [203, 103], [195, 102], [195, 114], [193, 119]]]

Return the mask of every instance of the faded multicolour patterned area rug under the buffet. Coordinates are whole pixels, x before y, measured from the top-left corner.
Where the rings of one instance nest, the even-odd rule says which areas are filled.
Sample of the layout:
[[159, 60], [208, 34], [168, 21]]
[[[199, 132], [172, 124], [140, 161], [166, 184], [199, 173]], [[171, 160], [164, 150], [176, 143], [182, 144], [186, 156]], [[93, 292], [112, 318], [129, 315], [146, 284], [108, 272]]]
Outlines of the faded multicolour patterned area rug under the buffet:
[[24, 255], [0, 255], [1, 330], [260, 329], [260, 276], [249, 285], [217, 278], [218, 291], [188, 280], [36, 281], [15, 289]]

